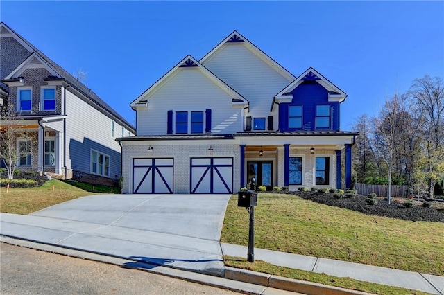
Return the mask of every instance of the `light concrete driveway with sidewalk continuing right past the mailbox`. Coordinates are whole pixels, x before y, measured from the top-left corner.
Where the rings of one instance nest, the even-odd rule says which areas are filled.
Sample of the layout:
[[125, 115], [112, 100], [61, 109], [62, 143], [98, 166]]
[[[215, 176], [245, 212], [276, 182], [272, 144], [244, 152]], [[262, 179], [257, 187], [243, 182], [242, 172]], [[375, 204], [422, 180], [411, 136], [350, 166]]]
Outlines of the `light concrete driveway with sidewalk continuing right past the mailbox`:
[[[219, 242], [230, 197], [83, 197], [31, 215], [0, 213], [0, 235], [223, 277], [228, 268], [223, 265], [222, 256], [246, 257], [247, 253], [246, 247]], [[444, 294], [442, 276], [264, 249], [255, 249], [255, 260], [431, 294]], [[261, 275], [253, 274], [252, 278], [253, 281], [259, 280]], [[266, 284], [270, 282], [268, 276]]]

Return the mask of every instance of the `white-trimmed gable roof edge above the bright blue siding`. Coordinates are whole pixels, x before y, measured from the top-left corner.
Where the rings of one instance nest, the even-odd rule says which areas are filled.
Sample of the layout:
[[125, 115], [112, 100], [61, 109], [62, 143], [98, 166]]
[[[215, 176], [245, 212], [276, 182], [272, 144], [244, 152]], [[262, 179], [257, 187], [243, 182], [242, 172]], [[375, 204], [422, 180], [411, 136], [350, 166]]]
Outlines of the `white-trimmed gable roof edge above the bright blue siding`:
[[328, 91], [328, 100], [329, 101], [338, 101], [343, 102], [345, 98], [347, 98], [347, 94], [336, 87], [332, 82], [327, 80], [321, 73], [309, 67], [302, 75], [300, 75], [296, 80], [291, 82], [287, 87], [282, 89], [276, 96], [276, 100], [291, 100], [293, 99], [293, 94], [291, 91], [296, 89], [302, 82], [304, 81], [316, 81], [321, 84], [322, 87], [327, 89]]

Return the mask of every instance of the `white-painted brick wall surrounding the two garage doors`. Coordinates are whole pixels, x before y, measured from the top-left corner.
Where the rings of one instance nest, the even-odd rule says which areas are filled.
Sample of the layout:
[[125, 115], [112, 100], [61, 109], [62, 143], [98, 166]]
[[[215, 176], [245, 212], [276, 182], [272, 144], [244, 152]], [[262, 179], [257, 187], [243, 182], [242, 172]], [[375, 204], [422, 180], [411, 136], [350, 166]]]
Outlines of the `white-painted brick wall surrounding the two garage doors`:
[[[239, 180], [239, 159], [240, 147], [238, 144], [212, 144], [207, 141], [202, 144], [182, 145], [152, 145], [153, 151], [148, 152], [146, 145], [123, 145], [122, 175], [123, 188], [122, 193], [131, 193], [130, 175], [132, 173], [133, 158], [174, 158], [174, 185], [173, 192], [178, 194], [189, 193], [190, 183], [190, 158], [191, 157], [233, 157], [233, 192], [240, 188]], [[208, 151], [212, 145], [213, 151]]]

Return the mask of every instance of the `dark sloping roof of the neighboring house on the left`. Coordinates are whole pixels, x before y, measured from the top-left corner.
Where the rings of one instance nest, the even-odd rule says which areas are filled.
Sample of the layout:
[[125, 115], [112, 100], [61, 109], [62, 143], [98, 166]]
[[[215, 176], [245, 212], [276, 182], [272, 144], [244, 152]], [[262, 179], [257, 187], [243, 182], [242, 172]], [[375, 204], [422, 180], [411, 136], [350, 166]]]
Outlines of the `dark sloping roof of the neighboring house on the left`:
[[[105, 113], [108, 113], [110, 116], [114, 117], [115, 120], [117, 120], [121, 125], [125, 126], [126, 129], [130, 130], [131, 132], [135, 132], [135, 128], [128, 123], [125, 118], [123, 118], [117, 111], [114, 111], [110, 105], [108, 105], [104, 100], [99, 98], [99, 96], [96, 95], [91, 89], [86, 87], [82, 82], [78, 81], [78, 79], [74, 78], [73, 75], [65, 71], [65, 69], [62, 69], [61, 66], [56, 64], [56, 62], [53, 62], [49, 57], [44, 55], [42, 51], [38, 50], [33, 44], [29, 43], [24, 37], [20, 36], [15, 32], [15, 30], [12, 30], [9, 26], [7, 26], [5, 23], [0, 22], [0, 31], [3, 33], [5, 30], [9, 31], [9, 33], [12, 35], [11, 37], [14, 37], [17, 42], [22, 44], [25, 48], [28, 49], [31, 53], [35, 54], [35, 57], [39, 57], [39, 59], [44, 62], [46, 66], [49, 67], [59, 78], [65, 79], [67, 83], [69, 83], [70, 87], [73, 87], [78, 92], [82, 93], [83, 96], [85, 96], [90, 102], [94, 103], [98, 109], [102, 109]], [[14, 71], [16, 71], [15, 69]], [[51, 72], [51, 71], [50, 71]]]

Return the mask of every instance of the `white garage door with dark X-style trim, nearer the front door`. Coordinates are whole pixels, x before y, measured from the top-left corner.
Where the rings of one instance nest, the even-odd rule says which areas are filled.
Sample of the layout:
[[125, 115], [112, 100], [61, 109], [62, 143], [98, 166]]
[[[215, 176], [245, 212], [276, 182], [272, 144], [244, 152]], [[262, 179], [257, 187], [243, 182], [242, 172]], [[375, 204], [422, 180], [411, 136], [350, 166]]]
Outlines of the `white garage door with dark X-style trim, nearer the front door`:
[[233, 158], [191, 158], [191, 193], [232, 194]]

